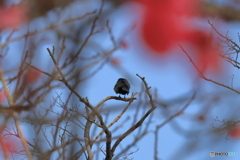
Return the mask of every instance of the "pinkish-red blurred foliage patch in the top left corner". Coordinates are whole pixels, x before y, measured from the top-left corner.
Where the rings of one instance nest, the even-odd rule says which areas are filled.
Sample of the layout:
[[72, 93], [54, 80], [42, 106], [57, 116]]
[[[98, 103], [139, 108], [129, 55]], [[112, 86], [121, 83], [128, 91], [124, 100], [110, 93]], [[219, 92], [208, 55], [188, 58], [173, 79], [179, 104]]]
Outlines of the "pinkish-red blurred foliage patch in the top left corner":
[[4, 8], [0, 6], [0, 30], [16, 27], [27, 20], [27, 9], [24, 6]]

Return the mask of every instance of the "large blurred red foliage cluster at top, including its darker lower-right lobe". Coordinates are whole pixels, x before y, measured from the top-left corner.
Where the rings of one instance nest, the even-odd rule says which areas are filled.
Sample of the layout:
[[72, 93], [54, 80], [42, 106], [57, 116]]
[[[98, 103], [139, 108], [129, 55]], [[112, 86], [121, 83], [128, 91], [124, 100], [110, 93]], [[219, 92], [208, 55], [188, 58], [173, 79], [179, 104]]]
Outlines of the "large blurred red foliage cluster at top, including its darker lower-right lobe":
[[197, 66], [203, 72], [220, 70], [219, 47], [206, 30], [194, 29], [200, 0], [139, 0], [143, 6], [141, 36], [155, 54], [165, 55], [180, 42], [194, 47]]

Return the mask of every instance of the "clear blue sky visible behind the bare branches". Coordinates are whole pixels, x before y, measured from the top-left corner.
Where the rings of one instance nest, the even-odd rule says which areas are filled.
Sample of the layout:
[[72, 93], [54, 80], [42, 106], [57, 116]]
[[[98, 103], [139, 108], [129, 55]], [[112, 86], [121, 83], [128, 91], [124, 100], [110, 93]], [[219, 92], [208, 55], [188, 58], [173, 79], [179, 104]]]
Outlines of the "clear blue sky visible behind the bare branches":
[[[92, 4], [92, 6], [97, 5]], [[72, 7], [77, 8], [78, 6], [76, 5]], [[137, 37], [138, 28], [135, 31], [130, 32], [126, 37], [121, 37], [121, 35], [135, 22], [136, 18], [133, 15], [129, 15], [128, 12], [123, 9], [124, 7], [127, 6], [123, 6], [116, 10], [114, 14], [109, 17], [114, 36], [117, 39], [124, 38], [126, 42], [129, 43], [128, 49], [118, 50], [112, 55], [113, 58], [120, 60], [121, 65], [119, 67], [114, 67], [110, 63], [106, 64], [96, 75], [94, 75], [84, 84], [82, 96], [88, 97], [92, 104], [97, 104], [100, 100], [107, 96], [116, 95], [113, 87], [117, 79], [120, 77], [127, 78], [129, 80], [131, 84], [131, 92], [139, 92], [142, 82], [136, 76], [137, 73], [140, 76], [146, 77], [146, 81], [148, 82], [149, 86], [152, 87], [152, 92], [154, 89], [157, 89], [159, 101], [172, 104], [166, 109], [159, 104], [156, 105], [157, 109], [154, 111], [154, 116], [149, 129], [150, 132], [139, 143], [137, 143], [133, 149], [130, 150], [135, 151], [139, 149], [130, 157], [134, 157], [135, 160], [153, 159], [154, 137], [152, 132], [154, 132], [155, 126], [157, 124], [161, 124], [167, 119], [167, 117], [180, 110], [187, 103], [188, 98], [192, 96], [194, 89], [199, 89], [197, 92], [197, 100], [193, 101], [193, 103], [182, 115], [176, 117], [173, 122], [166, 124], [160, 129], [158, 157], [162, 160], [192, 160], [213, 159], [209, 156], [210, 151], [238, 152], [238, 154], [240, 154], [239, 139], [230, 138], [230, 140], [226, 141], [226, 132], [221, 134], [214, 133], [210, 127], [211, 123], [216, 125], [218, 124], [213, 120], [216, 118], [216, 116], [218, 116], [219, 119], [232, 118], [232, 120], [237, 120], [237, 117], [239, 117], [237, 114], [239, 113], [239, 107], [237, 106], [239, 103], [239, 98], [237, 99], [238, 95], [232, 91], [212, 84], [211, 82], [206, 82], [202, 79], [200, 79], [200, 83], [196, 83], [196, 77], [198, 77], [197, 72], [178, 46], [170, 51], [171, 54], [169, 54], [169, 56], [160, 57], [149, 53], [149, 50], [139, 45]], [[84, 10], [82, 10], [82, 12], [84, 12]], [[74, 15], [74, 12], [68, 13], [65, 16], [68, 17], [71, 14]], [[52, 19], [54, 19], [54, 16], [51, 15], [51, 13], [49, 16], [52, 16]], [[33, 22], [33, 29], [36, 26], [44, 27], [45, 24], [38, 22], [40, 20], [41, 19], [38, 19]], [[211, 21], [217, 22], [218, 19], [211, 19]], [[201, 20], [199, 23], [203, 26], [209, 27], [207, 24], [207, 19]], [[229, 31], [230, 38], [238, 42], [237, 33], [239, 32], [239, 22], [220, 22], [217, 24], [221, 24], [216, 26], [217, 29], [219, 29], [223, 34]], [[45, 64], [47, 62], [46, 64], [51, 64], [48, 53], [46, 52], [46, 47], [52, 47], [52, 45], [56, 45], [58, 40], [52, 38], [54, 37], [54, 33], [52, 31], [44, 32], [43, 36], [49, 38], [49, 42], [52, 42], [52, 44], [39, 44], [36, 53], [39, 55], [45, 54], [46, 57], [43, 56], [44, 58], [41, 60], [36, 59], [35, 62], [38, 62], [36, 63], [37, 66], [43, 67], [43, 70], [46, 70], [49, 66], [43, 65], [43, 63]], [[96, 37], [94, 41], [98, 43], [101, 42], [101, 45], [105, 46], [106, 49], [110, 48], [110, 42], [109, 40], [106, 40], [105, 37], [104, 40], [101, 36]], [[15, 62], [11, 61], [11, 59], [12, 57], [10, 56], [8, 57], [8, 61], [5, 61], [5, 63], [10, 64], [9, 66], [15, 65]], [[230, 67], [229, 65], [225, 65], [224, 68], [225, 70], [221, 75], [213, 76], [208, 74], [207, 76], [210, 76], [221, 83], [230, 85], [230, 75], [234, 74], [234, 87], [238, 88], [239, 75], [237, 75], [237, 72], [239, 71]], [[59, 92], [61, 91], [59, 90]], [[67, 92], [64, 94], [67, 94]], [[218, 102], [215, 103], [215, 106], [213, 106], [211, 109], [205, 111], [207, 108], [206, 106], [211, 100], [211, 94], [219, 94], [216, 96], [219, 96], [220, 100], [218, 100]], [[203, 98], [200, 99], [199, 97]], [[181, 98], [185, 98], [185, 101], [179, 100]], [[130, 118], [133, 117], [137, 103], [138, 100], [134, 101], [122, 119], [125, 119], [128, 116]], [[121, 111], [121, 107], [123, 108], [125, 105], [126, 102], [111, 100], [102, 107], [105, 107], [106, 109], [113, 108], [113, 111], [110, 111], [110, 121], [111, 119], [115, 118], [116, 115], [118, 115], [118, 113]], [[117, 109], [114, 110], [114, 107]], [[196, 117], [200, 114], [206, 115], [206, 121], [202, 122], [196, 119]], [[122, 124], [122, 120], [117, 122], [116, 126], [120, 124]], [[123, 124], [123, 127], [118, 130], [118, 132], [114, 132], [113, 136], [123, 133], [130, 127], [131, 124], [132, 119], [130, 119], [129, 123]], [[144, 127], [145, 124], [143, 124], [142, 127]], [[181, 132], [181, 130], [176, 129], [176, 126], [180, 126], [183, 130], [189, 132]], [[124, 139], [122, 141], [122, 146], [124, 147], [125, 145], [128, 145], [128, 143], [133, 139], [132, 136], [135, 136], [137, 132], [138, 129], [134, 131], [128, 138]], [[194, 134], [187, 134], [192, 132]], [[239, 159], [239, 156], [218, 157], [215, 159], [237, 160]]]

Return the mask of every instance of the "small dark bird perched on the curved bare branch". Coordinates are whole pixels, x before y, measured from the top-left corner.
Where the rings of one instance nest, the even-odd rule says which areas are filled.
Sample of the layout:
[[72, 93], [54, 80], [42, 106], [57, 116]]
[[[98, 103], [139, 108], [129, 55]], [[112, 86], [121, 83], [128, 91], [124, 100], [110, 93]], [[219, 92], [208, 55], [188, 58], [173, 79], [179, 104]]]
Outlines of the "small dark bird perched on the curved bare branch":
[[114, 91], [116, 92], [116, 94], [123, 94], [123, 95], [128, 94], [129, 89], [130, 89], [130, 84], [124, 78], [119, 78], [117, 83], [114, 86]]

